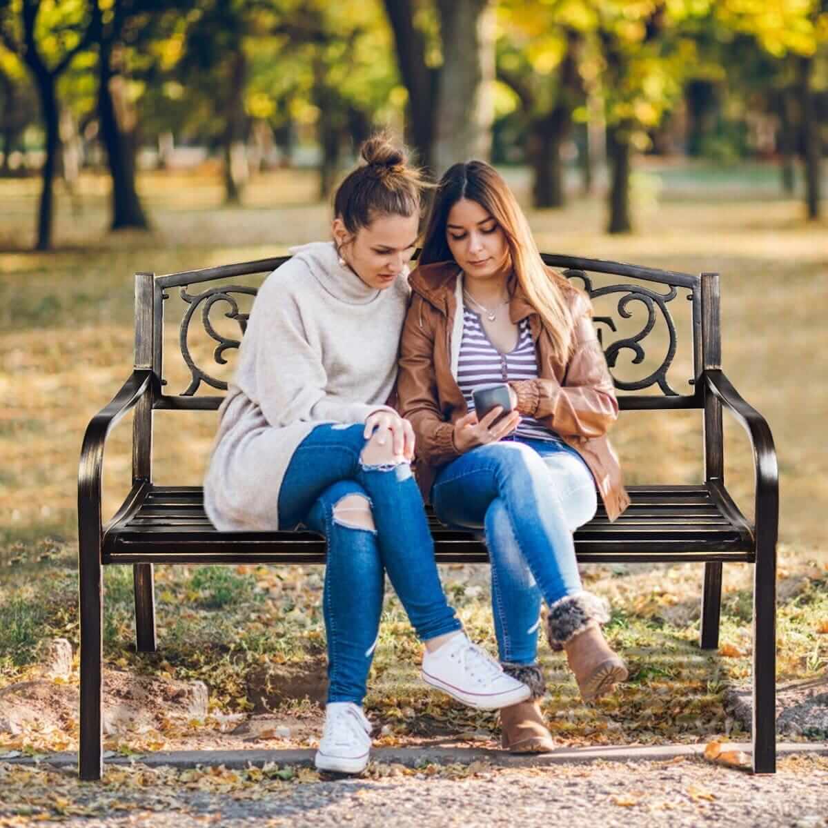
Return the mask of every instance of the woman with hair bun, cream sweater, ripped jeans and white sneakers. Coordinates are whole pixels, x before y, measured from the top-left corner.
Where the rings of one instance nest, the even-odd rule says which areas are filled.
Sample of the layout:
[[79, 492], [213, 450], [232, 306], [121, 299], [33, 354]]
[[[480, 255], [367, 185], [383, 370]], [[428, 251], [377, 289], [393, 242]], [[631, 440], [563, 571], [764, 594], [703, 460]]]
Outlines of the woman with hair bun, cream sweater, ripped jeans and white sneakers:
[[385, 571], [426, 645], [427, 683], [484, 709], [530, 693], [469, 642], [440, 586], [414, 433], [389, 404], [422, 184], [386, 137], [362, 156], [335, 195], [335, 241], [295, 248], [258, 292], [205, 478], [219, 529], [302, 523], [327, 539], [330, 688], [315, 762], [344, 773], [368, 763], [362, 702]]

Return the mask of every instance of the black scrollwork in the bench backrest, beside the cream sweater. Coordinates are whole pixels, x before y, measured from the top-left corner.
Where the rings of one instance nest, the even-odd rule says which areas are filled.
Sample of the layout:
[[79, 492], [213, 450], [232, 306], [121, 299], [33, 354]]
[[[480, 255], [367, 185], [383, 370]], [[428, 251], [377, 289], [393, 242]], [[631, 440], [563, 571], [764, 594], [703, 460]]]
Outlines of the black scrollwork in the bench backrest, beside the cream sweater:
[[[201, 308], [201, 323], [204, 325], [204, 330], [209, 335], [210, 339], [216, 342], [213, 351], [213, 359], [219, 365], [226, 365], [227, 359], [224, 358], [224, 352], [238, 348], [242, 343], [242, 337], [248, 327], [248, 313], [243, 313], [238, 309], [238, 301], [233, 297], [233, 294], [246, 294], [248, 296], [256, 296], [257, 289], [255, 287], [246, 287], [240, 285], [225, 285], [221, 287], [211, 287], [203, 293], [190, 294], [186, 287], [181, 288], [181, 298], [189, 305], [184, 318], [181, 320], [181, 329], [179, 331], [179, 341], [181, 343], [181, 356], [184, 358], [187, 367], [190, 368], [192, 374], [192, 381], [184, 392], [181, 392], [182, 397], [191, 397], [198, 390], [201, 383], [206, 383], [213, 388], [226, 391], [227, 383], [224, 380], [216, 378], [208, 373], [205, 368], [200, 368], [193, 359], [190, 353], [190, 347], [187, 344], [187, 337], [190, 333], [190, 322], [195, 316], [195, 311]], [[210, 320], [210, 311], [219, 303], [224, 303], [229, 306], [229, 309], [224, 312], [224, 317], [238, 322], [240, 335], [238, 339], [230, 339], [227, 336], [219, 333], [215, 329], [213, 322]]]

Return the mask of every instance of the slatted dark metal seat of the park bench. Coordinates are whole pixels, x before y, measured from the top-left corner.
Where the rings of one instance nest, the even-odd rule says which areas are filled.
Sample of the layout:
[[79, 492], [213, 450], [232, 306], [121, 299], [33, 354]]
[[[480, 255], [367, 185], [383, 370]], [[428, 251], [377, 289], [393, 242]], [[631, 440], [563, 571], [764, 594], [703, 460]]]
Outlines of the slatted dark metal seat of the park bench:
[[[747, 523], [730, 519], [704, 484], [631, 486], [632, 503], [615, 522], [603, 505], [575, 532], [582, 562], [751, 561]], [[741, 516], [739, 516], [741, 517]], [[443, 526], [428, 509], [440, 563], [488, 560], [477, 533]], [[104, 537], [107, 563], [321, 563], [325, 542], [314, 532], [219, 532], [204, 511], [200, 486], [147, 489]]]

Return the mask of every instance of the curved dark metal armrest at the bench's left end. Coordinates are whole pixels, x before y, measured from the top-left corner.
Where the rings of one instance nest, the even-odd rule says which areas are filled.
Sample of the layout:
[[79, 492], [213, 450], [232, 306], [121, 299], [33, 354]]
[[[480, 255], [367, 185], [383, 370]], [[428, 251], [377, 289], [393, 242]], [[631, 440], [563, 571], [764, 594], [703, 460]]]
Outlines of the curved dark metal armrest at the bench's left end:
[[152, 371], [142, 368], [132, 372], [123, 387], [89, 421], [80, 449], [78, 469], [78, 520], [81, 531], [84, 527], [100, 532], [101, 484], [103, 476], [103, 448], [113, 427], [138, 400], [152, 388]]

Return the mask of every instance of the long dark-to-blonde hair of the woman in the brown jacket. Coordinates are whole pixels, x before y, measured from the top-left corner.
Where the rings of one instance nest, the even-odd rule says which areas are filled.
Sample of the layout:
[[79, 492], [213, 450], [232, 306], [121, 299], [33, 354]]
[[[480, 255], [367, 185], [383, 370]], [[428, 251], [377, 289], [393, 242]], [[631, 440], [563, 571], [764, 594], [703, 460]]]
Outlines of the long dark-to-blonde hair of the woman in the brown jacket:
[[485, 161], [466, 161], [445, 171], [429, 211], [426, 238], [418, 261], [431, 264], [454, 259], [445, 224], [451, 208], [461, 199], [476, 201], [503, 229], [515, 277], [546, 324], [556, 359], [566, 364], [572, 347], [573, 321], [565, 291], [574, 288], [566, 278], [554, 272], [550, 275], [546, 269], [526, 216], [493, 166]]

